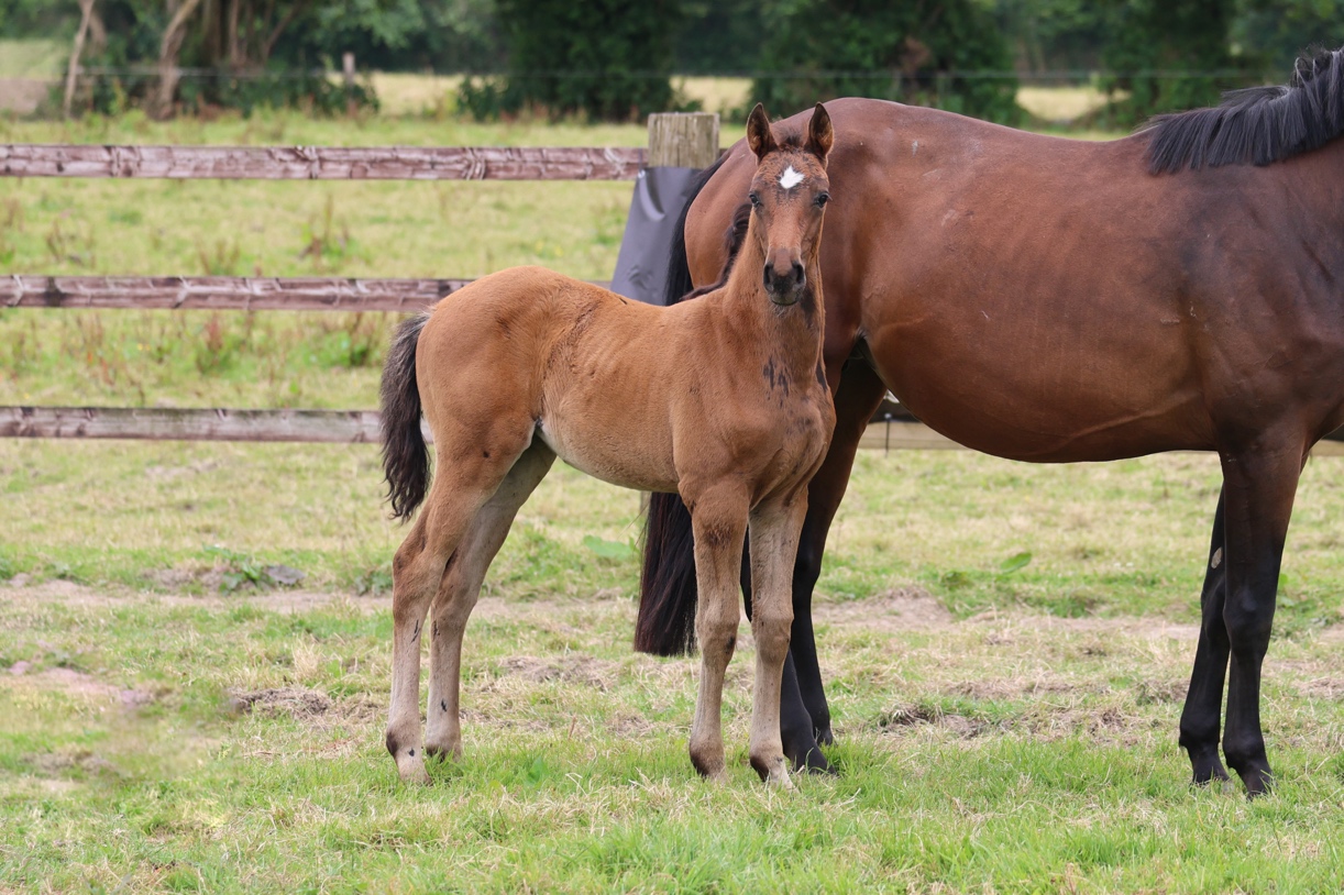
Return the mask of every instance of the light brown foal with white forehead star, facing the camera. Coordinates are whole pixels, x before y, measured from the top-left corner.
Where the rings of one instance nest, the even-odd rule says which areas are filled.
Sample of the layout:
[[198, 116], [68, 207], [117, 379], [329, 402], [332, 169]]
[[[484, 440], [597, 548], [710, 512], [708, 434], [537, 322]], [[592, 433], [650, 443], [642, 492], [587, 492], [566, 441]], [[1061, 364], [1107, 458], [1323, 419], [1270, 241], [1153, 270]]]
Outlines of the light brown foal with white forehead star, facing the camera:
[[[817, 105], [778, 142], [758, 105], [758, 167], [742, 258], [702, 301], [657, 308], [539, 267], [485, 277], [409, 320], [383, 371], [383, 469], [394, 516], [429, 497], [392, 560], [387, 751], [405, 781], [425, 755], [460, 755], [462, 632], [519, 507], [556, 456], [628, 488], [677, 492], [691, 509], [702, 594], [700, 691], [691, 761], [723, 774], [723, 675], [737, 640], [750, 529], [757, 641], [751, 766], [788, 785], [780, 687], [790, 577], [808, 481], [835, 409], [821, 367], [817, 249], [832, 130]], [[421, 413], [434, 434], [435, 469]], [[429, 723], [419, 724], [421, 633], [430, 621]]]

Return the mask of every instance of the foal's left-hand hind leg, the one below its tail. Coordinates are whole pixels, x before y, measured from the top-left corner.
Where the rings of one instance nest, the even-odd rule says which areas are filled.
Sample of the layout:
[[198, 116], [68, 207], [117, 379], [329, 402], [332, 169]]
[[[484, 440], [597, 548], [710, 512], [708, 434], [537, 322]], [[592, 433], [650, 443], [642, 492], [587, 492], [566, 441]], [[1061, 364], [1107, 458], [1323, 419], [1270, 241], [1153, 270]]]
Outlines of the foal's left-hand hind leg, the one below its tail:
[[[407, 782], [429, 781], [419, 720], [421, 628], [425, 613], [468, 525], [499, 488], [530, 438], [528, 427], [512, 437], [489, 433], [470, 439], [465, 435], [444, 439], [469, 442], [469, 449], [437, 445], [437, 474], [429, 499], [392, 558], [392, 697], [387, 751]], [[480, 442], [491, 443], [492, 449], [481, 450]], [[493, 458], [482, 457], [482, 453]]]

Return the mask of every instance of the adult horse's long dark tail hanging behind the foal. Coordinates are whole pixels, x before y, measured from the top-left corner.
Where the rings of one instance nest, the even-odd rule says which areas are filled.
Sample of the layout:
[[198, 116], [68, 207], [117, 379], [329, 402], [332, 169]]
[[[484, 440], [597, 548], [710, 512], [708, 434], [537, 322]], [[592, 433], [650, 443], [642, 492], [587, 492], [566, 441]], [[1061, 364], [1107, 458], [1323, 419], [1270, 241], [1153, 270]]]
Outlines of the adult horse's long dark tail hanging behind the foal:
[[[691, 196], [681, 208], [676, 234], [672, 238], [672, 261], [668, 265], [665, 304], [675, 305], [695, 298], [722, 285], [732, 269], [732, 262], [746, 238], [746, 212], [739, 208], [726, 234], [728, 261], [719, 284], [691, 292], [691, 266], [685, 253], [685, 216], [691, 203], [704, 184], [719, 169], [727, 156], [706, 168], [692, 184]], [[634, 622], [634, 649], [656, 656], [681, 656], [695, 649], [695, 538], [691, 532], [691, 512], [680, 495], [652, 495], [649, 515], [644, 527], [644, 570], [640, 574], [640, 613]]]

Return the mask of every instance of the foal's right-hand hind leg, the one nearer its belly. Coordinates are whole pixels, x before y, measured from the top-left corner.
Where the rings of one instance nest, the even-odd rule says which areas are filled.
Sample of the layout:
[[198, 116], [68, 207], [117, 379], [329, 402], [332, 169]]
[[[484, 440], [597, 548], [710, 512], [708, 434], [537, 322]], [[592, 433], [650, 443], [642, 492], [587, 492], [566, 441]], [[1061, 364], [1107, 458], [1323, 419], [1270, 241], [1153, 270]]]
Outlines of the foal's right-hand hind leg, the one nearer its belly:
[[523, 452], [495, 496], [476, 513], [457, 547], [456, 559], [444, 574], [438, 597], [430, 607], [429, 711], [425, 734], [425, 751], [430, 757], [456, 758], [462, 754], [458, 693], [466, 618], [476, 606], [485, 572], [504, 544], [513, 517], [546, 477], [554, 460], [555, 453], [540, 439]]

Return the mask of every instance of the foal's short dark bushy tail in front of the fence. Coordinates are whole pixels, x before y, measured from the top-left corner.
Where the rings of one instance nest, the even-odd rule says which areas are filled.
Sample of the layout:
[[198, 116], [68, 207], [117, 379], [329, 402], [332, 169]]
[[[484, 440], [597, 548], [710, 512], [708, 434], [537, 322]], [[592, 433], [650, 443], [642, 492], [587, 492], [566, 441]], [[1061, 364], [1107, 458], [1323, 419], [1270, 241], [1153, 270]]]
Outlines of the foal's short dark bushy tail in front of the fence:
[[421, 434], [415, 345], [429, 312], [401, 325], [383, 366], [383, 476], [394, 519], [409, 519], [429, 489], [429, 450]]

